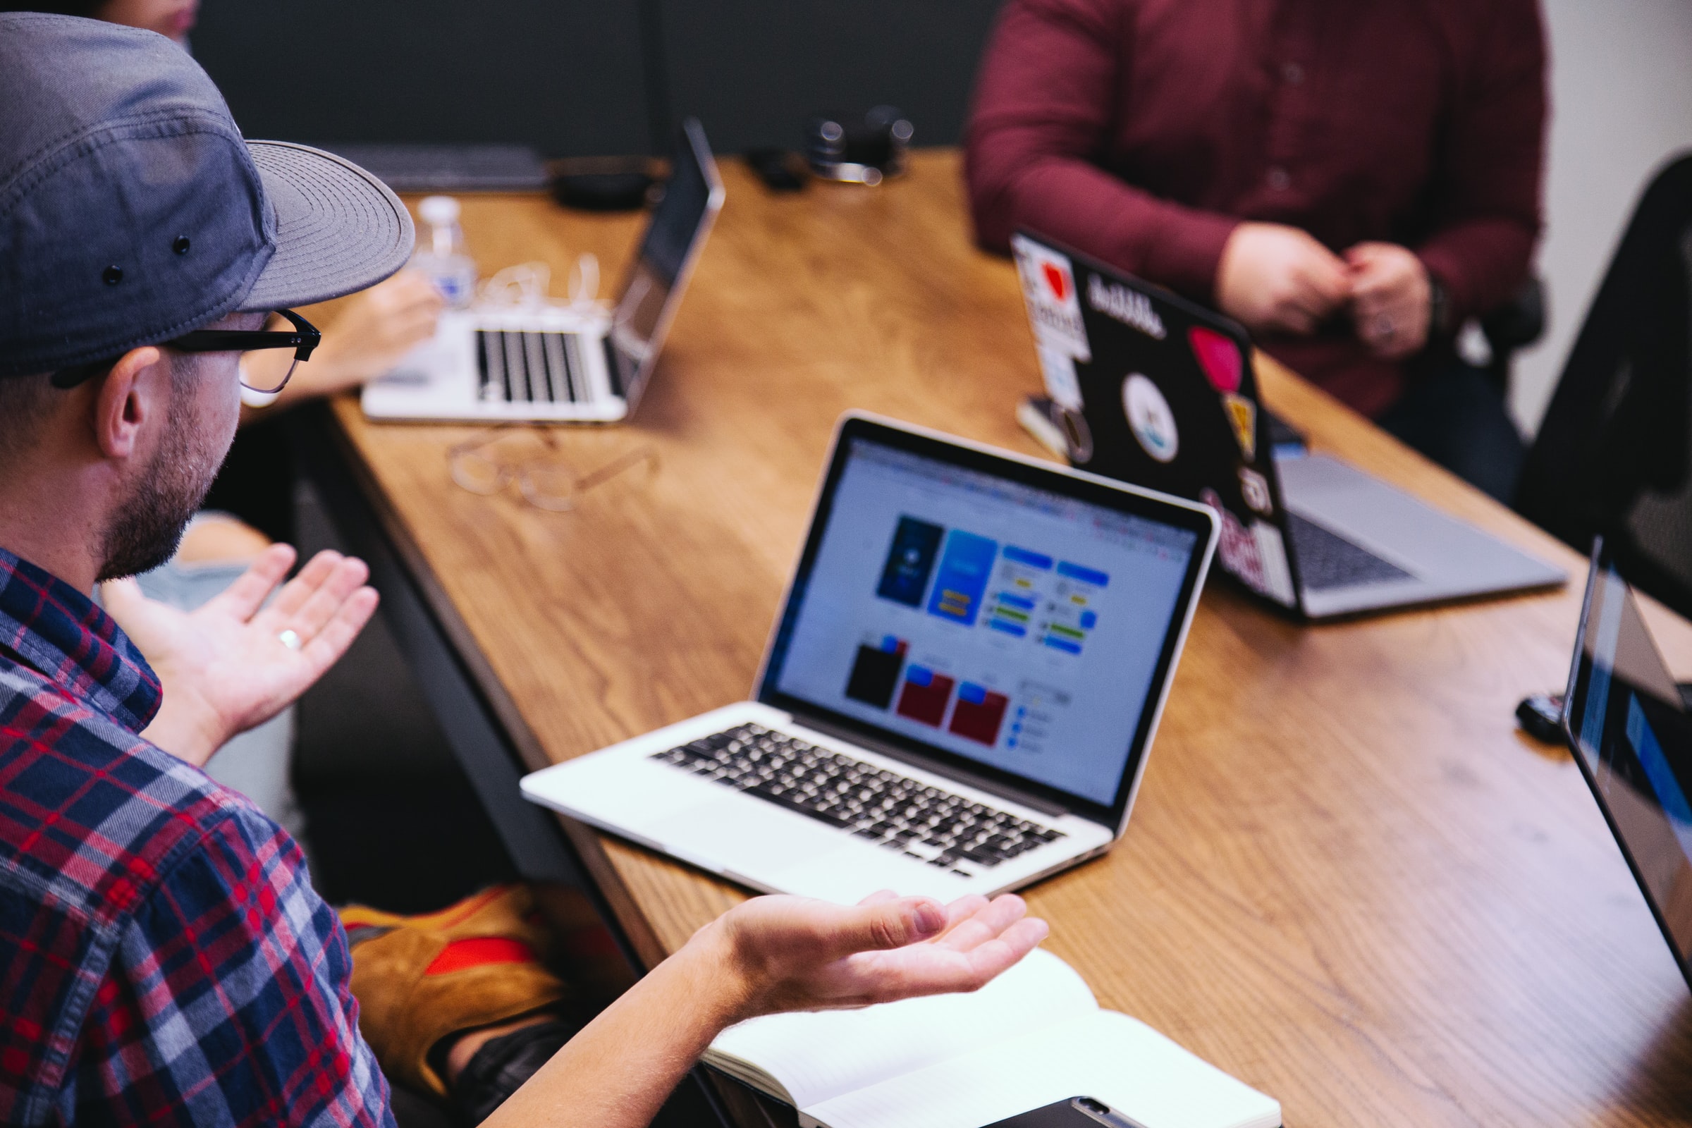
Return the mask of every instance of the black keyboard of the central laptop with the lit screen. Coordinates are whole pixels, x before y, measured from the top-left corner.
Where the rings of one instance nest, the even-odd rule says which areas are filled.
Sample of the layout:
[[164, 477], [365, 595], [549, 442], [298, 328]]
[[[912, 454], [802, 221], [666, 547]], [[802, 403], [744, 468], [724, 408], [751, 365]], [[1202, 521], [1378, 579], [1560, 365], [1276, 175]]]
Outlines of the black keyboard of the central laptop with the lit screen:
[[992, 869], [1063, 832], [1019, 819], [897, 771], [841, 756], [799, 737], [743, 724], [655, 753], [675, 764], [761, 800], [849, 830], [931, 866]]

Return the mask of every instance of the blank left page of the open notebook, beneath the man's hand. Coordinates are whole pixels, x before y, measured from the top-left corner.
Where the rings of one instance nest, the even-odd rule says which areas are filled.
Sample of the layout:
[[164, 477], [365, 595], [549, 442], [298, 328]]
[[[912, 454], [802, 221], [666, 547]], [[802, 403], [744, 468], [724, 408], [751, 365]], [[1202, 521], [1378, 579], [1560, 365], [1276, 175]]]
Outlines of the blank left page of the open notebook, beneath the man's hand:
[[795, 1106], [807, 1108], [1096, 1008], [1069, 964], [1034, 949], [975, 994], [765, 1015], [729, 1027], [711, 1049], [760, 1065], [782, 1082]]

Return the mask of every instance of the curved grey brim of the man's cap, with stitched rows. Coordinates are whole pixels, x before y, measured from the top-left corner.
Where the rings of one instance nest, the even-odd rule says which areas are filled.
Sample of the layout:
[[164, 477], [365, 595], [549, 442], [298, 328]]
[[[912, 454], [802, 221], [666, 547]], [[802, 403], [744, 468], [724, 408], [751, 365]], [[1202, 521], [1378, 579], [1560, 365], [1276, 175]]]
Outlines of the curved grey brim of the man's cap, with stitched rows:
[[411, 213], [350, 161], [308, 145], [249, 140], [276, 215], [276, 254], [242, 311], [328, 301], [381, 282], [411, 257]]

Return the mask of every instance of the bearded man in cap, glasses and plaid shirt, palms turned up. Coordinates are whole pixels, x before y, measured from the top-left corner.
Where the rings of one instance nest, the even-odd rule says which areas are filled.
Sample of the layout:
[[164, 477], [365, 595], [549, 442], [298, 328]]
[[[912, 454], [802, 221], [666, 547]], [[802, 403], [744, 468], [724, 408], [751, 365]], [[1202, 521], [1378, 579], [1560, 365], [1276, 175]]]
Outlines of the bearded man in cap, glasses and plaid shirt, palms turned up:
[[[171, 556], [240, 404], [279, 391], [242, 353], [310, 359], [288, 308], [409, 250], [393, 193], [244, 140], [162, 36], [0, 14], [0, 1123], [393, 1123], [340, 920], [198, 768], [345, 653], [364, 565], [323, 553], [277, 590], [276, 546], [193, 614], [107, 583], [124, 627], [90, 592]], [[643, 1125], [729, 1023], [975, 989], [1044, 935], [1014, 896], [755, 898], [487, 1123]]]

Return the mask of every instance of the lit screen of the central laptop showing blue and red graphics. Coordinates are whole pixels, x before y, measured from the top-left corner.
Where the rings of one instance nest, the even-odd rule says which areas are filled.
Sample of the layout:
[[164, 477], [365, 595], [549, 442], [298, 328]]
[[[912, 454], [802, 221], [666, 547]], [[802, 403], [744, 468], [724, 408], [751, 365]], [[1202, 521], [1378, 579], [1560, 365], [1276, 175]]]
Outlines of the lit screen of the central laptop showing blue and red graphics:
[[758, 700], [1120, 827], [1215, 528], [1205, 506], [848, 416]]

